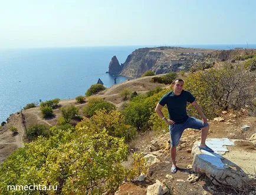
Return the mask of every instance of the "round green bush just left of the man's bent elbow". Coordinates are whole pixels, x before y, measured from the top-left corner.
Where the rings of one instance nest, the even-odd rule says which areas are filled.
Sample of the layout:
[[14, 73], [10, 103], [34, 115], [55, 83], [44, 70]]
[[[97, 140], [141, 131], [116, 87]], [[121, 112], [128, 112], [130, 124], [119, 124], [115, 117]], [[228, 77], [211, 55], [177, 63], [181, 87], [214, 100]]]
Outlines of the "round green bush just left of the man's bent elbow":
[[123, 110], [124, 118], [127, 124], [133, 125], [138, 131], [146, 130], [149, 127], [147, 123], [150, 117], [149, 106], [145, 101], [132, 101]]

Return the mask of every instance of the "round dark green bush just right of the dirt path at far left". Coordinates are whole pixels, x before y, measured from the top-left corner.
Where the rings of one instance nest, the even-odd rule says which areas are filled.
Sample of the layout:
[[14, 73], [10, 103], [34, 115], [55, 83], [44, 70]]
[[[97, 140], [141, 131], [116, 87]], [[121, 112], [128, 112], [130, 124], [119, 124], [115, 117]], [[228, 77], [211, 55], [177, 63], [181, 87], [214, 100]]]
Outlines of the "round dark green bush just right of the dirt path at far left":
[[38, 136], [49, 137], [50, 132], [45, 125], [34, 124], [28, 127], [27, 136], [29, 140], [35, 140]]

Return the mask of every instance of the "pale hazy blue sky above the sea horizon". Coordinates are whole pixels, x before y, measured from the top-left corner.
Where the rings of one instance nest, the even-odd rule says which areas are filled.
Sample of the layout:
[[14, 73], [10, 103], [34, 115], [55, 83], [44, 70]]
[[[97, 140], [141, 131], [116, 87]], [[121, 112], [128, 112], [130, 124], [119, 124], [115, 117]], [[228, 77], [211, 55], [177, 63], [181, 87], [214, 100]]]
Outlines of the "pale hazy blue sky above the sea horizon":
[[0, 48], [256, 44], [254, 0], [1, 0]]

